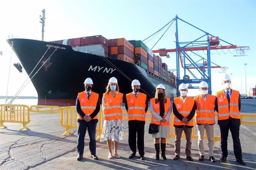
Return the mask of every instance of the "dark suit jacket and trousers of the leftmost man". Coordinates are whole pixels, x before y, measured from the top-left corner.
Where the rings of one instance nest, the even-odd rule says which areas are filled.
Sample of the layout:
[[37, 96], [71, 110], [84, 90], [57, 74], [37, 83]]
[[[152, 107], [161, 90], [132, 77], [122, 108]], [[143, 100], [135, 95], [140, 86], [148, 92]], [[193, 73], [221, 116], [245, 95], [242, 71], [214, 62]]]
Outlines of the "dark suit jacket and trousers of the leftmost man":
[[[86, 122], [85, 120], [78, 119], [78, 141], [77, 141], [77, 152], [79, 155], [83, 155], [83, 149], [85, 147], [85, 133], [86, 129], [88, 131], [89, 135], [89, 149], [91, 152], [91, 155], [96, 155], [96, 126], [98, 123], [98, 119], [93, 119], [100, 110], [100, 101], [98, 98], [96, 109], [93, 111], [93, 113], [90, 115], [92, 120], [89, 122]], [[85, 113], [83, 113], [80, 105], [79, 98], [76, 99], [76, 111], [78, 112], [78, 115], [81, 116], [81, 118], [85, 117]]]

